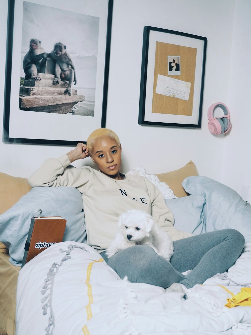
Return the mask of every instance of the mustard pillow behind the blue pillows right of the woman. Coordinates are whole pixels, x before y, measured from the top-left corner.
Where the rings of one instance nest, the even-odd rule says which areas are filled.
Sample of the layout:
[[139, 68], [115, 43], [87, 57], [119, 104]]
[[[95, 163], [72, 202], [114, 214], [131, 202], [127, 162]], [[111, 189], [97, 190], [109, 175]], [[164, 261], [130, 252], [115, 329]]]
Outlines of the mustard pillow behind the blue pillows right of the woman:
[[189, 195], [181, 185], [183, 180], [186, 177], [198, 176], [198, 172], [194, 162], [190, 160], [190, 162], [178, 170], [160, 173], [156, 176], [161, 182], [166, 183], [170, 187], [176, 197], [180, 198]]

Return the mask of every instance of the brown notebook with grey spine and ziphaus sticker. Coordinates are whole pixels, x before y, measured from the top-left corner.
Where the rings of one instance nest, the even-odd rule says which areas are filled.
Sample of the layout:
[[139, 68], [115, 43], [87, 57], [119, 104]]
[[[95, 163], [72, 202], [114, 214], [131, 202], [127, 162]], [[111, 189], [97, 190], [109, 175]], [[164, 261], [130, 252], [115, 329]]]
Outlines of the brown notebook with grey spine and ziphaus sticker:
[[[34, 217], [38, 211], [40, 214]], [[63, 241], [66, 219], [61, 216], [40, 217], [42, 210], [38, 211], [31, 218], [21, 268], [41, 251]]]

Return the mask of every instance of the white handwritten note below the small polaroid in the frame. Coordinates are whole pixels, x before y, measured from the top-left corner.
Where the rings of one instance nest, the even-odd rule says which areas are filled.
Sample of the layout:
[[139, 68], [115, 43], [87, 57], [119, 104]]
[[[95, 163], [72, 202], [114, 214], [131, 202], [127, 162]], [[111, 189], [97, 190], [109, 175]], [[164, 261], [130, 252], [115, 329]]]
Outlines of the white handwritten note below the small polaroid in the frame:
[[175, 78], [158, 75], [156, 93], [188, 100], [191, 83]]

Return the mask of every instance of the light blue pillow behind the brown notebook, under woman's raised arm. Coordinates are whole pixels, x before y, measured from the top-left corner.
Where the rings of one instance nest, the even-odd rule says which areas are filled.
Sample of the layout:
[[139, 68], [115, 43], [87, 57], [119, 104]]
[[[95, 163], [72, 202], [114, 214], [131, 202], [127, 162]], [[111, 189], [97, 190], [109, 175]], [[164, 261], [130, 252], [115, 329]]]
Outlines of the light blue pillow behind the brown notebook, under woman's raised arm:
[[66, 219], [63, 241], [84, 242], [85, 217], [81, 193], [72, 187], [34, 187], [0, 215], [0, 241], [10, 253], [10, 262], [21, 266], [30, 220], [34, 213]]

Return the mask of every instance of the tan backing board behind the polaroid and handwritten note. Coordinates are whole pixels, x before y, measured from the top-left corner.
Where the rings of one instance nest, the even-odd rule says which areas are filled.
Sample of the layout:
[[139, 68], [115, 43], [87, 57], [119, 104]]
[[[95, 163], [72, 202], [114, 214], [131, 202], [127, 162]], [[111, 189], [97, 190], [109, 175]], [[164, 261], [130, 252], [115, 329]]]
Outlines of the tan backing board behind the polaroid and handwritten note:
[[[152, 113], [192, 115], [193, 92], [197, 49], [180, 45], [156, 42]], [[167, 56], [180, 56], [180, 75], [168, 76]], [[156, 92], [158, 74], [191, 83], [188, 101], [158, 94]]]

